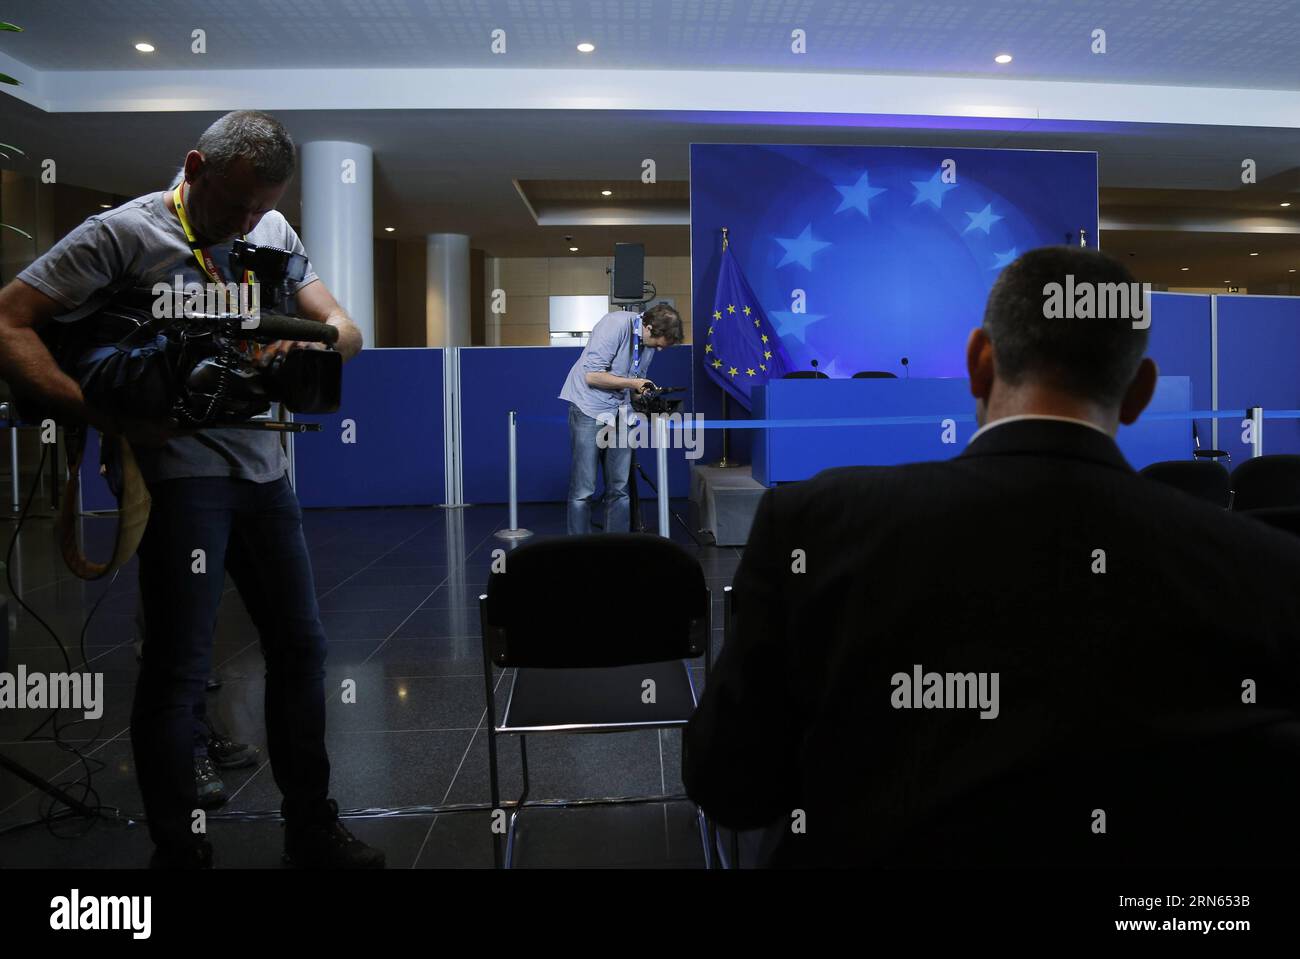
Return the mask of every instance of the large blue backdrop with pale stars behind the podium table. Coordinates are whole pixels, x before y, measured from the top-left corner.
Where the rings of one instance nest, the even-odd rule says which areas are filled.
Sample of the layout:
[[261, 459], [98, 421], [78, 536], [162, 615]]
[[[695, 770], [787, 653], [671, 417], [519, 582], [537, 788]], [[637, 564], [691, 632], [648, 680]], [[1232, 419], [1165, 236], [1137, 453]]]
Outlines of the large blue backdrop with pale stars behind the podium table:
[[[956, 182], [945, 182], [945, 160]], [[1080, 229], [1097, 246], [1097, 155], [692, 144], [697, 344], [707, 340], [724, 226], [794, 369], [815, 359], [835, 378], [902, 376], [906, 356], [914, 377], [963, 377], [966, 335], [1006, 264], [1076, 244]], [[720, 389], [696, 352], [696, 405], [714, 412]]]

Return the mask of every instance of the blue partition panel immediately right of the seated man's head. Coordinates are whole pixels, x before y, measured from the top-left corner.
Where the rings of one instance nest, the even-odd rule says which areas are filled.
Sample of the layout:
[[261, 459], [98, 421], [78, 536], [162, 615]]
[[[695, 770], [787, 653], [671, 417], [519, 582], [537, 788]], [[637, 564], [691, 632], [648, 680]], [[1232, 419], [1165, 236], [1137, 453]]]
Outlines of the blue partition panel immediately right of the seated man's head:
[[[1160, 374], [1166, 377], [1190, 377], [1192, 381], [1192, 405], [1190, 409], [1212, 409], [1212, 338], [1210, 338], [1210, 298], [1200, 294], [1150, 295], [1150, 343], [1147, 355], [1160, 366]], [[1219, 429], [1223, 429], [1219, 421]], [[1186, 450], [1178, 459], [1191, 455], [1193, 447], [1191, 424], [1184, 425]], [[1213, 446], [1213, 424], [1210, 420], [1197, 420], [1196, 431], [1201, 446]]]

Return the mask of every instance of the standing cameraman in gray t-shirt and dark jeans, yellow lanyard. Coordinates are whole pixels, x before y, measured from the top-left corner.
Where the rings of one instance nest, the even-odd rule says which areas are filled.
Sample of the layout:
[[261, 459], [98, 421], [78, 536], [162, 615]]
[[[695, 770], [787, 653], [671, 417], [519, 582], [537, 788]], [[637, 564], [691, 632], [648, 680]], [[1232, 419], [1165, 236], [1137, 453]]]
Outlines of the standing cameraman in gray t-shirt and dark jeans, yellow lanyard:
[[[139, 547], [146, 635], [131, 711], [136, 776], [162, 868], [211, 865], [212, 849], [190, 829], [198, 807], [192, 722], [212, 663], [212, 632], [229, 572], [257, 626], [266, 660], [266, 741], [283, 793], [285, 855], [308, 867], [373, 867], [384, 854], [355, 839], [329, 799], [325, 752], [325, 633], [278, 434], [237, 429], [187, 433], [168, 422], [87, 407], [38, 330], [92, 316], [114, 295], [153, 283], [238, 282], [229, 270], [238, 237], [302, 253], [276, 212], [294, 173], [295, 147], [265, 113], [216, 121], [185, 157], [174, 190], [148, 194], [90, 217], [0, 290], [0, 377], [68, 422], [125, 437], [148, 483], [152, 508]], [[298, 314], [338, 327], [344, 360], [361, 335], [308, 268]], [[95, 321], [91, 321], [95, 322]], [[277, 342], [261, 363], [315, 343]], [[207, 572], [195, 573], [203, 550]]]

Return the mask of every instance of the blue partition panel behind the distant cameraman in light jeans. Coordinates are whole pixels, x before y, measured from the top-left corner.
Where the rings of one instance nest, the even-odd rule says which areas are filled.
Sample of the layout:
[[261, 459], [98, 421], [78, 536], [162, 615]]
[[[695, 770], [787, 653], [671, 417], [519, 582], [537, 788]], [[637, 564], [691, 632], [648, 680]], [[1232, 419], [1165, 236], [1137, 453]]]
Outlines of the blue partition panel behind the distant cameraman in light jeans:
[[[519, 422], [519, 499], [559, 503], [568, 496], [568, 403], [559, 398], [578, 347], [474, 347], [460, 351], [460, 430], [464, 437], [464, 496], [467, 503], [506, 503], [508, 446], [507, 415]], [[685, 386], [690, 408], [690, 347], [659, 352], [650, 377], [660, 386]], [[528, 417], [555, 417], [538, 422]], [[654, 478], [654, 454], [638, 459]], [[682, 450], [668, 451], [670, 492], [685, 496], [689, 473]], [[641, 486], [644, 495], [649, 487]]]

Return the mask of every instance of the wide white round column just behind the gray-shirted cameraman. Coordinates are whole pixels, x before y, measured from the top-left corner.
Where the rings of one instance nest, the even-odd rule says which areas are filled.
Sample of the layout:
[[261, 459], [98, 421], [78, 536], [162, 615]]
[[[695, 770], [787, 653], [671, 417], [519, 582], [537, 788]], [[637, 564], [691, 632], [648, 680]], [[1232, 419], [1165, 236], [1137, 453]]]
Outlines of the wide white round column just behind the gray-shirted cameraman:
[[303, 246], [374, 346], [374, 159], [364, 143], [312, 140], [303, 155]]

